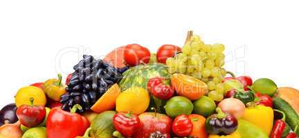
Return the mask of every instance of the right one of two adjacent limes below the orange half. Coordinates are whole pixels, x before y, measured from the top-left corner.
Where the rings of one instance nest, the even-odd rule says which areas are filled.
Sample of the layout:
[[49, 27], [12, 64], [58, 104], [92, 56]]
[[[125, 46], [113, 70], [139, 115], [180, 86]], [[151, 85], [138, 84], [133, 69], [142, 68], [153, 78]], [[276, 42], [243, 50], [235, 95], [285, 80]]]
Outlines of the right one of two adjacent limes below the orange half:
[[200, 97], [196, 101], [193, 101], [193, 112], [204, 117], [212, 115], [216, 109], [216, 103], [210, 97]]

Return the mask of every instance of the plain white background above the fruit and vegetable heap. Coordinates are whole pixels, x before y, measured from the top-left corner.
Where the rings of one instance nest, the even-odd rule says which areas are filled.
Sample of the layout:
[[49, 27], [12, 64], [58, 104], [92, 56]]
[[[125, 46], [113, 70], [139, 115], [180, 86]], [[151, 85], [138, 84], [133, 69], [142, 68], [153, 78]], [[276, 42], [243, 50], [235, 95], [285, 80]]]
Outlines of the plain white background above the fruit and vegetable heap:
[[299, 88], [298, 6], [272, 0], [1, 1], [0, 107], [22, 86], [71, 72], [78, 53], [64, 54], [57, 71], [62, 52], [100, 57], [128, 43], [156, 51], [165, 43], [181, 46], [188, 30], [206, 43], [224, 43], [226, 68], [237, 75]]

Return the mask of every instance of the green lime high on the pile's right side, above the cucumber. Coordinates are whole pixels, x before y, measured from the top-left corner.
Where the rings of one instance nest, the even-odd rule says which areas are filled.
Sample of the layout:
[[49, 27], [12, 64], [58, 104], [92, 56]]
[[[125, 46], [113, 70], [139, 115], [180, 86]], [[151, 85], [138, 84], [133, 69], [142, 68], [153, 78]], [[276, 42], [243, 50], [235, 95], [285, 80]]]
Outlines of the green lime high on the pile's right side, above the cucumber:
[[277, 90], [277, 85], [271, 79], [261, 78], [254, 81], [252, 88], [255, 92], [272, 97]]

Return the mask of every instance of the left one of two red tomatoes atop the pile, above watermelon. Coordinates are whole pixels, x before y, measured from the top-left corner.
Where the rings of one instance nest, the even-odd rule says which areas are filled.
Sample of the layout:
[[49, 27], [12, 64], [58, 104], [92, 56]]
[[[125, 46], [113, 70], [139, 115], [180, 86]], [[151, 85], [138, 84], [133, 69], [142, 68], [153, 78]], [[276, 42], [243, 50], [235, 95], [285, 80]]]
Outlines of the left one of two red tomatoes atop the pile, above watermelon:
[[129, 66], [136, 66], [139, 63], [148, 63], [150, 52], [147, 48], [136, 43], [129, 44], [125, 48], [125, 61]]

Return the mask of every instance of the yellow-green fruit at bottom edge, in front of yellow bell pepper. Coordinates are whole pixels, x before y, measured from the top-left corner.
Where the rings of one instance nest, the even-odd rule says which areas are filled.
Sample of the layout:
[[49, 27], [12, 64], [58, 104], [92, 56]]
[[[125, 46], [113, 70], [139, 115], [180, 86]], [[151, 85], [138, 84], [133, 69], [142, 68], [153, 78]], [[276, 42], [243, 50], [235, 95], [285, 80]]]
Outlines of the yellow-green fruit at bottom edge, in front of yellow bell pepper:
[[237, 131], [242, 138], [269, 138], [263, 130], [244, 119], [238, 120]]

